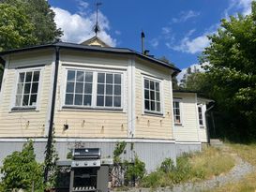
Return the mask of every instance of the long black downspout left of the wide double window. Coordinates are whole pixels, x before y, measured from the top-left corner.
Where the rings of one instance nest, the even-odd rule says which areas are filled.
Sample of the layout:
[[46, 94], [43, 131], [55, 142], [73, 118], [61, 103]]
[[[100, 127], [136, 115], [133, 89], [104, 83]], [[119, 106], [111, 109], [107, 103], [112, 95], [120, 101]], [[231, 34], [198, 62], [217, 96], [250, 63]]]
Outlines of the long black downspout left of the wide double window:
[[[55, 109], [58, 70], [59, 70], [59, 50], [60, 50], [60, 48], [58, 46], [55, 47], [55, 70], [54, 70], [54, 79], [53, 79], [53, 97], [52, 97], [52, 108], [51, 108], [50, 125], [49, 125], [48, 140], [47, 140], [47, 145], [46, 145], [45, 159], [49, 159], [49, 156], [51, 155], [51, 145], [53, 143], [53, 119], [54, 119], [54, 109]], [[46, 183], [48, 181], [48, 171], [49, 171], [49, 165], [46, 164], [46, 167], [44, 170], [44, 183]]]

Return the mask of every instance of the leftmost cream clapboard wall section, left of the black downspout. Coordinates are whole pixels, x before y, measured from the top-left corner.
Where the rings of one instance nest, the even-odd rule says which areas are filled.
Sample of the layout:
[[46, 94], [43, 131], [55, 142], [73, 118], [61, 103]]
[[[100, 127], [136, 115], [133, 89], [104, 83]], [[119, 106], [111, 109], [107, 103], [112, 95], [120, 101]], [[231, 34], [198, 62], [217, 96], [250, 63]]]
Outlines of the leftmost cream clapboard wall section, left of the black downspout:
[[[5, 70], [5, 80], [0, 103], [0, 137], [42, 137], [48, 110], [53, 51], [20, 53], [9, 56], [8, 68]], [[40, 96], [38, 96], [38, 111], [11, 111], [12, 98], [15, 95], [17, 67], [41, 66], [42, 81]]]

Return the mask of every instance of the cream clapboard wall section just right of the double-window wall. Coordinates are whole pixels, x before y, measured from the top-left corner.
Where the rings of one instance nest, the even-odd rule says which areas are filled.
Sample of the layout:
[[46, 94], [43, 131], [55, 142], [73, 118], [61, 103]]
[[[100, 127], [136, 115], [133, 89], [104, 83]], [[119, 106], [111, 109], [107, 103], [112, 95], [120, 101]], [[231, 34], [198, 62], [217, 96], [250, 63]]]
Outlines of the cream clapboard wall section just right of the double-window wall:
[[[143, 61], [136, 61], [136, 109], [135, 109], [135, 137], [153, 139], [173, 139], [172, 107], [171, 107], [171, 71], [161, 66], [152, 66]], [[143, 74], [162, 79], [163, 86], [163, 115], [143, 114]]]

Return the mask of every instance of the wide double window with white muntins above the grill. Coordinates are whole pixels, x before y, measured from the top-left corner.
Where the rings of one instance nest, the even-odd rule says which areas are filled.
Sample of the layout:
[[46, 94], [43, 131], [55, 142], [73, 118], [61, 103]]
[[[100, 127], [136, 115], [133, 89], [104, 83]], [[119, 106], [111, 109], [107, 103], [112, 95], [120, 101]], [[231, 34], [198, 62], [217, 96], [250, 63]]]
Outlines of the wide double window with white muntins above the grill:
[[68, 69], [65, 105], [121, 109], [122, 74]]

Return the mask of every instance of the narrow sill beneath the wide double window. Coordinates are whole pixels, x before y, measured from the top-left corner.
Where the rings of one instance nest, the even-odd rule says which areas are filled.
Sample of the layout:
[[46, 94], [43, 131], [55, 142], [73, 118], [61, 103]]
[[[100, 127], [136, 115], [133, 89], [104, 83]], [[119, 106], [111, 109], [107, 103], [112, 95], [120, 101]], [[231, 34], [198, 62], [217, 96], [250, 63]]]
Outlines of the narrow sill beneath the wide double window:
[[79, 107], [79, 106], [63, 106], [62, 111], [113, 111], [123, 112], [122, 108], [92, 108], [92, 107]]

